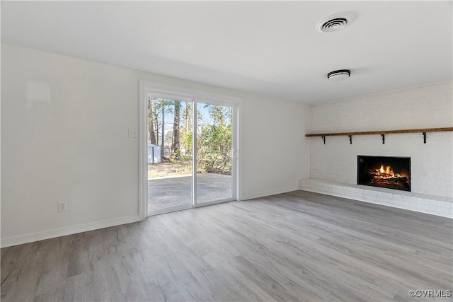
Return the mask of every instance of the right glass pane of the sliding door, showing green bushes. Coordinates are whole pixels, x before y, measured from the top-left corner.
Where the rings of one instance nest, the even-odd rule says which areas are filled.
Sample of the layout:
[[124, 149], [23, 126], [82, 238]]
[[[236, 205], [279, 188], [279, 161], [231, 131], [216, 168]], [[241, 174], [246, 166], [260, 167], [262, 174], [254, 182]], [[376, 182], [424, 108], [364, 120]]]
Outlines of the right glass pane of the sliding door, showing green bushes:
[[197, 103], [197, 204], [233, 198], [232, 108]]

